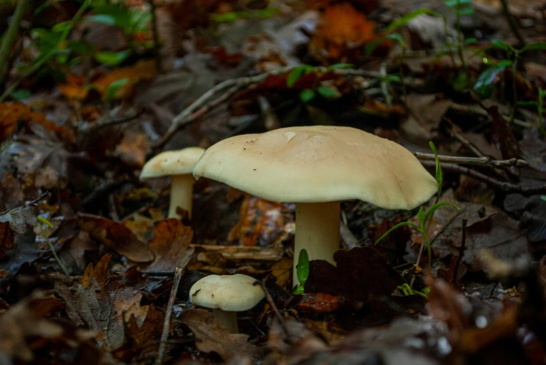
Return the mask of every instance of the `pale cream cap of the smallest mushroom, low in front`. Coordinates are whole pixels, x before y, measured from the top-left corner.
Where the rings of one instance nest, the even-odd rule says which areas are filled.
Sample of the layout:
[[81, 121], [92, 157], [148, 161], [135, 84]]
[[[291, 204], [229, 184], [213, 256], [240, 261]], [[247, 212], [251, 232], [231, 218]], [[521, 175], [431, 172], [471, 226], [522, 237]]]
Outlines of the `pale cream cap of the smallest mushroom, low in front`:
[[243, 274], [205, 276], [189, 290], [189, 299], [196, 306], [247, 311], [266, 296], [260, 285], [252, 285], [254, 282], [255, 278]]

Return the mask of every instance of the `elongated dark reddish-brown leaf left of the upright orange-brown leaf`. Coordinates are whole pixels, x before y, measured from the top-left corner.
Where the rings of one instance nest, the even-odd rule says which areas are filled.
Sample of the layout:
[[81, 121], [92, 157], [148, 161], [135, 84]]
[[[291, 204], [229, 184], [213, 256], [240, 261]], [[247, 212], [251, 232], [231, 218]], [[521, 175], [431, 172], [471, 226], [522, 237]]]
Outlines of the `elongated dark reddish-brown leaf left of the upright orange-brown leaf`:
[[93, 239], [131, 261], [150, 262], [154, 259], [152, 251], [122, 223], [89, 214], [78, 215], [77, 221], [80, 229], [88, 232]]

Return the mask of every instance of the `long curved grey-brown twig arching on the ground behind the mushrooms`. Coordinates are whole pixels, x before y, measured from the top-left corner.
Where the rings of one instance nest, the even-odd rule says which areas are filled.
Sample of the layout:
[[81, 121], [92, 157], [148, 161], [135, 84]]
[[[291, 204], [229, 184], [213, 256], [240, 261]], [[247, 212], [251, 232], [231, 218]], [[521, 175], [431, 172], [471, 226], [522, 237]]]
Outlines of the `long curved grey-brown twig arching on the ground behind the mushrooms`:
[[[236, 79], [229, 79], [224, 82], [220, 82], [220, 84], [217, 84], [212, 89], [209, 89], [205, 94], [197, 98], [197, 100], [195, 100], [194, 103], [189, 105], [185, 110], [182, 110], [180, 114], [174, 117], [173, 121], [171, 122], [171, 126], [168, 127], [168, 130], [166, 131], [165, 135], [162, 136], [159, 139], [159, 141], [152, 146], [152, 148], [156, 149], [163, 146], [173, 136], [173, 134], [176, 131], [178, 131], [179, 128], [189, 124], [191, 121], [194, 121], [195, 120], [194, 118], [196, 117], [192, 117], [192, 115], [194, 114], [194, 112], [196, 112], [196, 110], [200, 109], [201, 107], [206, 107], [207, 108], [206, 110], [208, 110], [209, 109], [209, 107], [207, 106], [208, 103], [215, 103], [215, 105], [217, 105], [219, 103], [217, 99], [209, 102], [209, 100], [213, 99], [213, 97], [216, 94], [219, 94], [225, 89], [229, 89], [229, 91], [227, 91], [223, 96], [221, 96], [222, 101], [226, 100], [227, 98], [229, 98], [229, 96], [234, 94], [238, 89], [244, 89], [245, 87], [249, 87], [252, 84], [259, 84], [260, 82], [266, 80], [266, 78], [269, 76], [277, 76], [277, 75], [283, 75], [285, 73], [289, 73], [292, 70], [292, 68], [294, 68], [294, 66], [279, 68], [278, 70], [273, 70], [267, 73], [261, 73], [255, 76], [238, 77]], [[315, 68], [315, 70], [318, 73], [326, 72], [325, 67], [317, 67]], [[357, 70], [354, 68], [342, 68], [338, 70], [331, 70], [331, 72], [337, 73], [338, 75], [344, 75], [344, 76], [380, 77], [380, 74], [376, 71]], [[203, 113], [206, 112], [206, 110], [204, 110]], [[201, 114], [202, 113], [200, 112], [199, 115]]]

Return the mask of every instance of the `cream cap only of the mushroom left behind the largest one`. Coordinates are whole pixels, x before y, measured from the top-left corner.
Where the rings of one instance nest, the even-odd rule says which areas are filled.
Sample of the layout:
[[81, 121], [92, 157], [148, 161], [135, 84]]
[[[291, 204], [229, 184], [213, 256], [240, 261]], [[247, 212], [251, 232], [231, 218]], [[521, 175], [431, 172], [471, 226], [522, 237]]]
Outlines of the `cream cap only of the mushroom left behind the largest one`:
[[191, 174], [203, 155], [201, 147], [187, 147], [178, 151], [164, 151], [150, 158], [141, 171], [141, 180], [151, 177]]

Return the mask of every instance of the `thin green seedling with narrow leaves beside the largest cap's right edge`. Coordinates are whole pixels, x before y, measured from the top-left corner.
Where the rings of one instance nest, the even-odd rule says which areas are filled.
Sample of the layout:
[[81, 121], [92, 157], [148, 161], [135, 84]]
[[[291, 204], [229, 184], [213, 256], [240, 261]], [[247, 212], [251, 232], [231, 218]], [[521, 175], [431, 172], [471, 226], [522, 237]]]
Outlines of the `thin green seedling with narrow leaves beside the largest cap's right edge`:
[[423, 236], [423, 241], [426, 244], [426, 250], [429, 254], [429, 268], [432, 267], [432, 251], [431, 251], [431, 242], [429, 240], [429, 235], [427, 234], [427, 231], [429, 230], [429, 225], [432, 222], [432, 217], [436, 209], [440, 207], [445, 207], [447, 205], [450, 205], [454, 207], [455, 209], [459, 210], [460, 208], [457, 207], [456, 204], [453, 204], [452, 202], [438, 202], [440, 199], [440, 195], [442, 194], [442, 184], [443, 184], [443, 172], [442, 167], [440, 165], [440, 160], [438, 158], [438, 151], [436, 151], [436, 147], [434, 146], [433, 142], [429, 142], [432, 151], [434, 152], [434, 156], [436, 157], [436, 183], [438, 184], [438, 194], [436, 195], [436, 201], [433, 204], [432, 207], [430, 207], [426, 212], [424, 211], [424, 207], [420, 207], [419, 211], [417, 212], [417, 221], [419, 221], [419, 225], [416, 225], [411, 222], [401, 222], [397, 225], [394, 225], [390, 230], [385, 232], [377, 241], [375, 241], [375, 244], [378, 244], [382, 239], [387, 237], [392, 231], [396, 230], [396, 228], [400, 228], [403, 225], [409, 225], [410, 227], [417, 230], [417, 232], [421, 233]]

